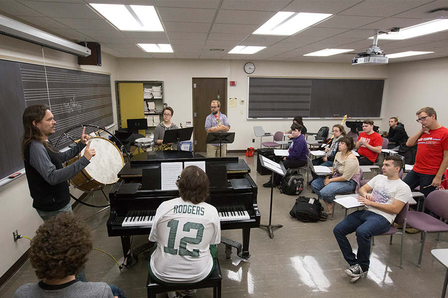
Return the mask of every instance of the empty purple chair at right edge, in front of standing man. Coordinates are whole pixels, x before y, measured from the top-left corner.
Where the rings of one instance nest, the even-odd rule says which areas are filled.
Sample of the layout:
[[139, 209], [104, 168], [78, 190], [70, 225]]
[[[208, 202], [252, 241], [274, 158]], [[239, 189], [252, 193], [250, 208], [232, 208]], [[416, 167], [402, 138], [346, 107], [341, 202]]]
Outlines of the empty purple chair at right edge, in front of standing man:
[[[448, 192], [443, 190], [435, 190], [428, 195], [424, 203], [424, 209], [431, 210], [434, 214], [441, 217], [441, 219], [448, 219]], [[432, 217], [424, 212], [409, 211], [407, 215], [407, 224], [421, 230], [422, 233], [422, 248], [420, 249], [419, 264], [421, 267], [423, 248], [425, 246], [425, 239], [427, 233], [448, 232], [448, 224]], [[439, 240], [439, 234], [436, 237]]]

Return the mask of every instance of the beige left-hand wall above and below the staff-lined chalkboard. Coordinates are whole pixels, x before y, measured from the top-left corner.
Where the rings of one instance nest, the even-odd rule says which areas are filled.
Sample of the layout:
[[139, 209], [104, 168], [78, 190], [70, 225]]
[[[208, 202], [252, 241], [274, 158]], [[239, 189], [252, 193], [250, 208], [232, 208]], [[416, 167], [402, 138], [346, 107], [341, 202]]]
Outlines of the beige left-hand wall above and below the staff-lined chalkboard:
[[[93, 72], [103, 72], [111, 74], [112, 100], [115, 111], [115, 90], [113, 82], [116, 72], [116, 59], [107, 54], [102, 55], [103, 66], [83, 66], [78, 65], [76, 56], [44, 48], [45, 63], [47, 66], [62, 67], [73, 70], [85, 70]], [[43, 65], [42, 49], [40, 46], [16, 40], [4, 35], [0, 35], [0, 59], [20, 61]], [[1, 113], [4, 113], [2, 111]], [[115, 117], [116, 122], [116, 117]], [[16, 136], [20, 138], [20, 136]], [[17, 154], [20, 154], [17, 152]], [[79, 197], [82, 192], [72, 192]], [[73, 203], [73, 200], [72, 200]], [[26, 238], [13, 241], [12, 232], [17, 229], [19, 234], [32, 238], [37, 227], [42, 224], [42, 220], [32, 208], [32, 199], [29, 196], [26, 176], [0, 187], [0, 276], [3, 275], [17, 259], [29, 247], [29, 240]]]

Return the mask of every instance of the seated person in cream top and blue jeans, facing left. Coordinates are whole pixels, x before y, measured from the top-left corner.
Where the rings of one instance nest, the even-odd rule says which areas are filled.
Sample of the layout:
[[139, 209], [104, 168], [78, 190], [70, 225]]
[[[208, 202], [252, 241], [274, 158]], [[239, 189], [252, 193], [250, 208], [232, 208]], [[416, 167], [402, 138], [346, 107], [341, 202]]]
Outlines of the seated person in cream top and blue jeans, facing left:
[[321, 176], [320, 178], [311, 182], [313, 188], [319, 199], [324, 200], [327, 205], [328, 212], [322, 213], [322, 221], [327, 220], [327, 217], [333, 212], [333, 200], [336, 194], [355, 190], [359, 190], [359, 181], [361, 180], [361, 173], [359, 171], [359, 163], [356, 156], [351, 152], [355, 147], [352, 137], [342, 137], [339, 139], [339, 152], [336, 153], [335, 161], [333, 163], [332, 175]]

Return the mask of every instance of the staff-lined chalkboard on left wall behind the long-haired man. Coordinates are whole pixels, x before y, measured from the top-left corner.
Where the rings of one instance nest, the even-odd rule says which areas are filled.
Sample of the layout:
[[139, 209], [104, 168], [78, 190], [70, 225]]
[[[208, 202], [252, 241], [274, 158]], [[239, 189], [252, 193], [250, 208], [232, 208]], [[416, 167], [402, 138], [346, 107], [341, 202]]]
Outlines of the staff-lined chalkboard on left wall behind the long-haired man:
[[[48, 89], [47, 89], [48, 86]], [[24, 167], [21, 158], [22, 115], [26, 107], [47, 104], [56, 124], [57, 139], [77, 125], [104, 128], [113, 124], [111, 76], [28, 63], [0, 60], [0, 178]], [[95, 129], [87, 128], [91, 133]], [[78, 140], [82, 129], [69, 135]], [[62, 138], [58, 149], [71, 144]]]

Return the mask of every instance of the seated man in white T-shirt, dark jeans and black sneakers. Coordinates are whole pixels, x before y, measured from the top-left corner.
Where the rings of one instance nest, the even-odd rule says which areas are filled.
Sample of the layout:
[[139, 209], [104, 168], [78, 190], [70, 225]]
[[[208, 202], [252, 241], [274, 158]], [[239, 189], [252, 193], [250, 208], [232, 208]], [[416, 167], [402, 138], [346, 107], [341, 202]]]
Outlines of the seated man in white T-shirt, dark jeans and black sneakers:
[[[337, 244], [350, 268], [345, 273], [355, 282], [369, 270], [370, 238], [383, 234], [390, 228], [395, 216], [411, 198], [411, 189], [398, 176], [403, 168], [399, 156], [384, 158], [383, 174], [375, 176], [359, 189], [358, 201], [365, 209], [350, 213], [333, 229]], [[372, 191], [369, 194], [369, 191]], [[356, 232], [358, 251], [356, 255], [346, 235]]]

